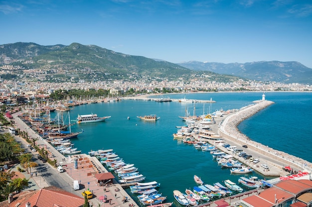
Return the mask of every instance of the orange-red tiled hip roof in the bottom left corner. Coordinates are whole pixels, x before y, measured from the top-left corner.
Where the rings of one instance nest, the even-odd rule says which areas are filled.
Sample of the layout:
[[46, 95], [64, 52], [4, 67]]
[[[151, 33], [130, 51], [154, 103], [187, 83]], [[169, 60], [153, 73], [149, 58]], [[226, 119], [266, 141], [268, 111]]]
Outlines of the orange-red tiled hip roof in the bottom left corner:
[[[8, 201], [0, 203], [0, 207], [24, 207], [26, 203], [30, 203], [31, 207], [82, 207], [85, 200], [82, 197], [50, 186], [32, 192], [25, 192], [14, 196], [14, 201], [8, 204]], [[3, 203], [3, 204], [2, 204]]]

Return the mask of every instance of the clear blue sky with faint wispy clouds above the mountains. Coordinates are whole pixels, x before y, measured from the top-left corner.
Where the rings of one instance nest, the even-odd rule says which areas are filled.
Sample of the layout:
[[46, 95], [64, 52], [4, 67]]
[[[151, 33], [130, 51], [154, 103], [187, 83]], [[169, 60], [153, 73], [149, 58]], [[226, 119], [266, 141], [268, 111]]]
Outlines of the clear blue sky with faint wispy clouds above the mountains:
[[78, 42], [166, 60], [312, 68], [312, 0], [0, 0], [0, 44]]

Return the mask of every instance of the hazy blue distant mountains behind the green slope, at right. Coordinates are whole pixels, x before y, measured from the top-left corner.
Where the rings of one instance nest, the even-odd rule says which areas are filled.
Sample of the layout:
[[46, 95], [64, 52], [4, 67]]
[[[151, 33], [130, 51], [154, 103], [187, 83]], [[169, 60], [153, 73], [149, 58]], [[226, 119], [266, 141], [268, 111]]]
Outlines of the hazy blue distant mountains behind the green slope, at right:
[[260, 61], [229, 64], [189, 61], [178, 63], [178, 65], [196, 71], [212, 71], [256, 81], [312, 84], [312, 69], [296, 61]]

